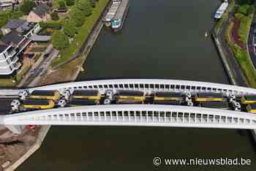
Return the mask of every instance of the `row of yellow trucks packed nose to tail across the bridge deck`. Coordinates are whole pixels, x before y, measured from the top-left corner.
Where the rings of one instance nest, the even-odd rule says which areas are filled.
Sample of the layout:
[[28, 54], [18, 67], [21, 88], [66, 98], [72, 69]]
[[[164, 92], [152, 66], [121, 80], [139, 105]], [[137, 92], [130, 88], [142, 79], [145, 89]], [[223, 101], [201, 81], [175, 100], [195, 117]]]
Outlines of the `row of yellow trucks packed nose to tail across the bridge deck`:
[[97, 90], [74, 90], [72, 94], [66, 91], [35, 90], [20, 93], [20, 98], [12, 101], [12, 112], [26, 110], [43, 110], [53, 107], [73, 107], [97, 104], [171, 104], [232, 109], [256, 113], [256, 96], [246, 95], [224, 96], [216, 93], [181, 94], [177, 92], [155, 92], [144, 94], [143, 91], [118, 90], [113, 93], [108, 90], [100, 94]]

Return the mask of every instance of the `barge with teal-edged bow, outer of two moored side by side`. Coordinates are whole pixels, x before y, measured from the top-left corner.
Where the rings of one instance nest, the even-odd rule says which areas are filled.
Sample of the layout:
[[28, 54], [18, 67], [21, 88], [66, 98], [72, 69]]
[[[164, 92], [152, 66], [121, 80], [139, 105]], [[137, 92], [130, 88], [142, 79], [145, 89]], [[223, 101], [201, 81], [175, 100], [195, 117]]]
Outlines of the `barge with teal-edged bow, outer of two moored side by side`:
[[121, 30], [124, 25], [124, 20], [127, 17], [128, 9], [129, 0], [121, 0], [121, 4], [119, 5], [116, 15], [111, 22], [113, 31]]

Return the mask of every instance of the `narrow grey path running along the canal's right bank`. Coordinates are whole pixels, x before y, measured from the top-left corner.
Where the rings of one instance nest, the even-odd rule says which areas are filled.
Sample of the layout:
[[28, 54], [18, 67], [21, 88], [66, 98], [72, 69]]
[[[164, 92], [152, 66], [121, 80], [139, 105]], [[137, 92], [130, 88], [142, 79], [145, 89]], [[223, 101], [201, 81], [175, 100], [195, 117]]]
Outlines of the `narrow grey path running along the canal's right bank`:
[[[229, 18], [233, 18], [233, 12], [230, 12]], [[247, 87], [244, 73], [242, 72], [241, 67], [238, 64], [238, 61], [236, 61], [236, 58], [233, 56], [233, 53], [231, 53], [230, 47], [228, 47], [225, 41], [225, 30], [227, 28], [227, 23], [228, 20], [223, 22], [222, 24], [222, 28], [219, 31], [219, 41], [222, 44], [222, 49], [225, 53], [225, 56], [227, 56], [227, 62], [232, 69], [233, 75], [236, 77], [237, 86]]]

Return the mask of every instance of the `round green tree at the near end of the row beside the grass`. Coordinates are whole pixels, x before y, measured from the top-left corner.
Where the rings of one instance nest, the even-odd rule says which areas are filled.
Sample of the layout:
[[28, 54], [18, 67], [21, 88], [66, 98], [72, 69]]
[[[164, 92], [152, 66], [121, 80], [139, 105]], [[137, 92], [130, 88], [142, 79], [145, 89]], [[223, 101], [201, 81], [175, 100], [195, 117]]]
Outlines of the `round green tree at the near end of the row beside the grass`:
[[53, 47], [57, 50], [64, 49], [69, 47], [69, 37], [62, 31], [54, 31], [50, 37], [50, 42], [53, 44]]

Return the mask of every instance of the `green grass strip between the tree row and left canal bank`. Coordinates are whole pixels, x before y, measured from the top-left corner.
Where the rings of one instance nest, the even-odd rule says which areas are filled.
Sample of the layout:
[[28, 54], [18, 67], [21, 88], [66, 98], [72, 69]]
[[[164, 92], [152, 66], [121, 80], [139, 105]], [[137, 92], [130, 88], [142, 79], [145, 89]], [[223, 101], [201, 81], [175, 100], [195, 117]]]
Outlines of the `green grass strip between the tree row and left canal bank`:
[[106, 5], [108, 4], [109, 0], [99, 0], [97, 3], [97, 7], [93, 8], [93, 13], [86, 17], [83, 26], [78, 28], [78, 34], [75, 35], [73, 41], [69, 45], [68, 48], [60, 51], [60, 58], [56, 58], [50, 64], [52, 67], [58, 66], [59, 64], [63, 63], [64, 61], [69, 60], [75, 53], [78, 52], [80, 47], [82, 47], [83, 42], [86, 41], [87, 37], [89, 36], [91, 29], [94, 27], [94, 24], [99, 19], [100, 15], [102, 14], [103, 9], [105, 9]]

